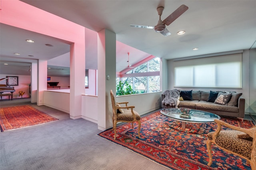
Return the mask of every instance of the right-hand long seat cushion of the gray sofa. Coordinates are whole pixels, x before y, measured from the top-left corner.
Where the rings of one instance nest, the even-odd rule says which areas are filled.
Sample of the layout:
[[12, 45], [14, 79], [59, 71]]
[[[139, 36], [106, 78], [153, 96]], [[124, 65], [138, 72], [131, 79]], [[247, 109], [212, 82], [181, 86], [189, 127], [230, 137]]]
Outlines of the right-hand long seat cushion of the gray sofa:
[[196, 103], [196, 109], [235, 112], [235, 113], [238, 113], [239, 111], [238, 107], [228, 106], [228, 105], [219, 105], [219, 104], [211, 103], [207, 101], [199, 101], [198, 103]]

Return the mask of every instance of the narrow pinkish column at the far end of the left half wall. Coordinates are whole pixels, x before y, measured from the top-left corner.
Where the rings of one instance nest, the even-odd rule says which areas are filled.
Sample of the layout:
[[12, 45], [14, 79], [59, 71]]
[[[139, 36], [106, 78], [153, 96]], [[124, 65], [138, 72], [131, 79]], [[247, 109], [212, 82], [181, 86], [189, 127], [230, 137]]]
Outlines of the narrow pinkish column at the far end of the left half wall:
[[47, 61], [38, 60], [37, 105], [44, 105], [44, 91], [47, 90]]

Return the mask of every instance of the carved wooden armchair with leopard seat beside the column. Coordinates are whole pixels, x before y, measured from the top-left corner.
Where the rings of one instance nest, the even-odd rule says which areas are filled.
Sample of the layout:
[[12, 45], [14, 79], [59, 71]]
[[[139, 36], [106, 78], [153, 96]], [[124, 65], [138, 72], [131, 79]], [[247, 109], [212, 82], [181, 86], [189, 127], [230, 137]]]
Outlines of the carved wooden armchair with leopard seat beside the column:
[[[135, 121], [138, 122], [138, 137], [140, 138], [140, 115], [134, 111], [134, 106], [127, 106], [128, 102], [116, 103], [113, 91], [110, 90], [112, 109], [113, 109], [113, 130], [115, 132], [114, 140], [116, 140], [116, 123], [118, 122], [131, 122], [132, 128]], [[121, 107], [120, 104], [125, 104], [125, 107]], [[119, 112], [119, 113], [118, 113]]]

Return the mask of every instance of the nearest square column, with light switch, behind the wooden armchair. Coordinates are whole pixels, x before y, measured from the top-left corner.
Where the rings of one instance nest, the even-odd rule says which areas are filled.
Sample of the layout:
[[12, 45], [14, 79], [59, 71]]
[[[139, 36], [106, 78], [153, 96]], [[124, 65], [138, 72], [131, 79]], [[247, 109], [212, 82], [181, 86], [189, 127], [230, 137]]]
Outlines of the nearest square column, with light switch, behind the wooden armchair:
[[[110, 79], [106, 77], [109, 75]], [[98, 32], [98, 129], [112, 127], [110, 89], [116, 91], [116, 34]]]

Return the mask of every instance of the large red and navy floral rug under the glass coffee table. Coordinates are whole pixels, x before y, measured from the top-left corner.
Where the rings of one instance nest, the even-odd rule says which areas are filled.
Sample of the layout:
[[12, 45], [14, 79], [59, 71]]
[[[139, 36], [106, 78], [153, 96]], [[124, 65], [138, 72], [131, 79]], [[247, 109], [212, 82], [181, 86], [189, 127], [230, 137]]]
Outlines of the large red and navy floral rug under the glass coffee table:
[[[221, 120], [238, 127], [250, 128], [252, 121], [240, 122], [236, 119], [222, 118]], [[216, 123], [198, 124], [186, 123], [182, 130], [181, 123], [174, 121], [157, 111], [141, 118], [140, 139], [138, 124], [134, 129], [131, 123], [117, 127], [114, 140], [112, 128], [98, 134], [116, 144], [124, 146], [146, 158], [162, 164], [173, 170], [250, 170], [246, 160], [233, 154], [228, 154], [212, 145], [213, 163], [208, 164], [206, 148], [207, 133], [215, 131]], [[227, 129], [227, 128], [225, 128]]]

